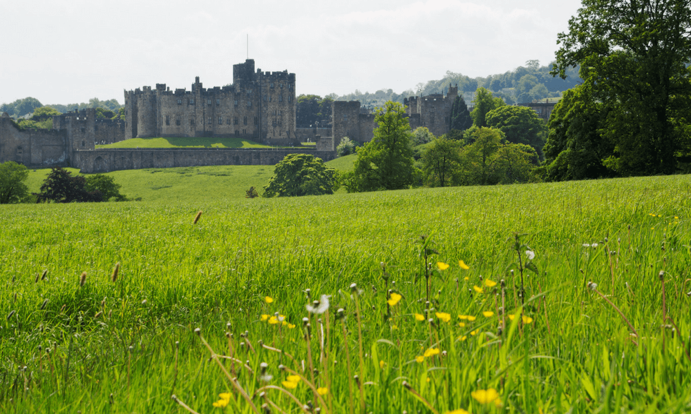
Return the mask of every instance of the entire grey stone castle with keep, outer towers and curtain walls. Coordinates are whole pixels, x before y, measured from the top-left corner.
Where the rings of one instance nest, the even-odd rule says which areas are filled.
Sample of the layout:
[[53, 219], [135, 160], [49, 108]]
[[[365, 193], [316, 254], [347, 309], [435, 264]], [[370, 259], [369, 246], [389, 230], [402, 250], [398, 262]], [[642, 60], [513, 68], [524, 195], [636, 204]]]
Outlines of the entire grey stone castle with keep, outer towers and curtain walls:
[[[446, 96], [405, 100], [410, 127], [448, 132], [451, 105], [458, 88]], [[332, 128], [296, 128], [295, 74], [255, 71], [254, 60], [233, 66], [233, 83], [203, 88], [199, 77], [191, 90], [155, 89], [124, 92], [125, 120], [97, 119], [94, 109], [53, 117], [52, 130], [21, 130], [7, 114], [0, 116], [0, 162], [17, 161], [31, 168], [72, 166], [82, 172], [182, 166], [274, 165], [294, 152], [325, 161], [336, 157], [343, 137], [361, 144], [372, 139], [375, 115], [359, 101], [335, 101]], [[287, 148], [131, 148], [96, 149], [130, 138], [242, 137]], [[316, 146], [301, 146], [308, 139]]]

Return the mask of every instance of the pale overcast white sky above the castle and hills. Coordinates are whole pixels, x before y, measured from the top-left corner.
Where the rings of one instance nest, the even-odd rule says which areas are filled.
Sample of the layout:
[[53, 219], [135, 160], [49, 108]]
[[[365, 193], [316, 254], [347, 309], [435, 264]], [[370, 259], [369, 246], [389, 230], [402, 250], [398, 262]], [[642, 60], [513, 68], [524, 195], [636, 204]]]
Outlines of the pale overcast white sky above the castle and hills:
[[554, 59], [580, 0], [0, 0], [0, 103], [123, 102], [123, 90], [296, 74], [298, 94], [403, 92]]

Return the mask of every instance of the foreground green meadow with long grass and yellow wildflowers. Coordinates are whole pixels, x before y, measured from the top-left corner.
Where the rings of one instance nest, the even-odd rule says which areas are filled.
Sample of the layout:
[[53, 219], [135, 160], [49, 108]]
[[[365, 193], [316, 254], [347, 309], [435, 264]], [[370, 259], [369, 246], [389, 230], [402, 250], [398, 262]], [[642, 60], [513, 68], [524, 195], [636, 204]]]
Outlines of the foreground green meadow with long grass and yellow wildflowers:
[[0, 412], [691, 410], [688, 176], [169, 191], [0, 206]]

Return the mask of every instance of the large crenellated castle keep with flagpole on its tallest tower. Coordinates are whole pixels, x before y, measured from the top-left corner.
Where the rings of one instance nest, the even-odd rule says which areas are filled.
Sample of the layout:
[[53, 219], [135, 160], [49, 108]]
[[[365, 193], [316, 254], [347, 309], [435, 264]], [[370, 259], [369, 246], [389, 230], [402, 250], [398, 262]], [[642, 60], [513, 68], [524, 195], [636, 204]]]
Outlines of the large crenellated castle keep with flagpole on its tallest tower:
[[165, 83], [125, 91], [125, 139], [245, 137], [262, 144], [299, 145], [295, 135], [295, 74], [233, 66], [233, 84], [191, 90]]

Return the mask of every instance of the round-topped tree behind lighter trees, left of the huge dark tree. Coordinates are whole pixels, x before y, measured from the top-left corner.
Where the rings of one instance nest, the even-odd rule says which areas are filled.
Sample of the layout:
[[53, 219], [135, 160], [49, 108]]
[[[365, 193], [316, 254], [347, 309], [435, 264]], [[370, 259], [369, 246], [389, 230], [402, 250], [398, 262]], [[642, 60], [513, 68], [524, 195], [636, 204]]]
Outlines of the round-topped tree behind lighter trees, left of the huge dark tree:
[[542, 153], [545, 145], [543, 135], [545, 122], [527, 106], [500, 106], [491, 110], [485, 117], [489, 128], [504, 132], [511, 144], [525, 144]]

